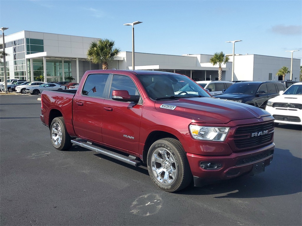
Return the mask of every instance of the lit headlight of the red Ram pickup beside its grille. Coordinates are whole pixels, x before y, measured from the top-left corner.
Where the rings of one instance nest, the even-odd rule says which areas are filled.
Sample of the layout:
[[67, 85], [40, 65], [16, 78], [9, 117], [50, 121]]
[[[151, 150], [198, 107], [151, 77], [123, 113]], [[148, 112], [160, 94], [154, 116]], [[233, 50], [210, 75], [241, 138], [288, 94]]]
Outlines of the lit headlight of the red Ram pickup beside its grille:
[[190, 125], [190, 132], [197, 140], [224, 141], [230, 127], [205, 127]]

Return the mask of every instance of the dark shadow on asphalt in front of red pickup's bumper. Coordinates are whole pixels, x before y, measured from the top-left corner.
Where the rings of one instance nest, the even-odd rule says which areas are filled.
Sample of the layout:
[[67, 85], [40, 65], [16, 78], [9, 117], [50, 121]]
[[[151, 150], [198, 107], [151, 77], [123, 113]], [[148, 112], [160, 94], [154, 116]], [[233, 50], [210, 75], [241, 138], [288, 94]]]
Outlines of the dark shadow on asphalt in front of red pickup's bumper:
[[302, 191], [302, 159], [289, 150], [275, 149], [271, 165], [255, 176], [223, 180], [204, 187], [189, 187], [178, 193], [212, 195], [215, 198], [259, 198], [295, 194]]

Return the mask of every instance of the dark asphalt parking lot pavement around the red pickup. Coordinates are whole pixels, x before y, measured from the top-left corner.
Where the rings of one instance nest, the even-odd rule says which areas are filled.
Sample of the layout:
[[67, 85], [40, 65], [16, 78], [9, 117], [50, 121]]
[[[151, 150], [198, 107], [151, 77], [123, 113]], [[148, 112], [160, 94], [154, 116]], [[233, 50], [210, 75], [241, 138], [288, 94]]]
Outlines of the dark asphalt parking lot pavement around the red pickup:
[[38, 97], [0, 96], [0, 225], [302, 225], [301, 126], [275, 128], [264, 173], [166, 193], [145, 166], [53, 148]]

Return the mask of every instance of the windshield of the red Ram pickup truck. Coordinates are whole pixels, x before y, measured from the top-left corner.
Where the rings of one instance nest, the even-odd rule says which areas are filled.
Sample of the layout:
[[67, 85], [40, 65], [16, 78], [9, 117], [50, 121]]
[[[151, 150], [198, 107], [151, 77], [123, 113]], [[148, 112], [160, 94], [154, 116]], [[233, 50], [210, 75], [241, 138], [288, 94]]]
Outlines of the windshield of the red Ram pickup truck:
[[[197, 83], [180, 74], [148, 74], [137, 76], [154, 100], [167, 100], [190, 97], [210, 97]], [[185, 88], [183, 91], [180, 87]]]

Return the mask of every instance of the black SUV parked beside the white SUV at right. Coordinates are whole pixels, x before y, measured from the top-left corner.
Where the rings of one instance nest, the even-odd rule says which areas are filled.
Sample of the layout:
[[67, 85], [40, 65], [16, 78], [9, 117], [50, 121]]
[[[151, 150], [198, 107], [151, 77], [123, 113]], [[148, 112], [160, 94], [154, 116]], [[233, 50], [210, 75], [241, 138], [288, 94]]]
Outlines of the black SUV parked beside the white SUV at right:
[[230, 86], [222, 94], [215, 95], [214, 97], [265, 109], [267, 101], [278, 96], [279, 92], [285, 89], [284, 83], [281, 82], [238, 82]]

